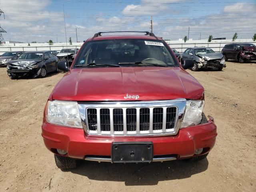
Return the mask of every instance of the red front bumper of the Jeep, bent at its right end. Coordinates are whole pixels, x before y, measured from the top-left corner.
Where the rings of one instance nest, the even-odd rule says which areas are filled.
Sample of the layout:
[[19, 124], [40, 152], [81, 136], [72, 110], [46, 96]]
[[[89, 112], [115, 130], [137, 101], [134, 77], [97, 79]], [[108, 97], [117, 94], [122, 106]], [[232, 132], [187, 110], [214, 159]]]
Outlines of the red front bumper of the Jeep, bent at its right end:
[[175, 136], [132, 138], [87, 136], [83, 129], [67, 128], [47, 122], [42, 124], [42, 137], [48, 150], [56, 154], [58, 154], [56, 149], [65, 150], [68, 152], [65, 156], [70, 158], [110, 162], [112, 142], [152, 142], [153, 161], [158, 161], [163, 156], [169, 160], [196, 156], [194, 152], [198, 148], [204, 148], [202, 154], [206, 154], [213, 148], [216, 136], [213, 118], [207, 123], [180, 129]]

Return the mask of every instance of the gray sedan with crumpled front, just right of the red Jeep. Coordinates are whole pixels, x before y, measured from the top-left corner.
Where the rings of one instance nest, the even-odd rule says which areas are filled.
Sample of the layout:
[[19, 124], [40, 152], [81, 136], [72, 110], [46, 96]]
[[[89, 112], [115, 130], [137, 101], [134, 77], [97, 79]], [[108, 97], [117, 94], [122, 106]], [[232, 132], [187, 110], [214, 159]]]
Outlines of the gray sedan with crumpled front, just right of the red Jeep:
[[180, 56], [182, 59], [194, 60], [192, 71], [199, 71], [202, 68], [212, 68], [221, 71], [226, 67], [222, 53], [214, 52], [211, 48], [193, 47], [186, 49]]

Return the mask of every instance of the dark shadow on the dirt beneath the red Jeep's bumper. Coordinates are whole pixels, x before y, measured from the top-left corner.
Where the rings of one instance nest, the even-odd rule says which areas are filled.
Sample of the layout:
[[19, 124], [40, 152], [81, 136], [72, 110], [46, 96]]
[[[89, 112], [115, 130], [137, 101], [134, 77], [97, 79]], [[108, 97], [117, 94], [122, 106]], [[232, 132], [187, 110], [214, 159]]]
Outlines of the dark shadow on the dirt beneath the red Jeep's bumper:
[[[156, 185], [159, 181], [190, 178], [204, 172], [208, 160], [184, 162], [154, 162], [147, 164], [111, 164], [109, 162], [82, 161], [76, 169], [67, 170], [88, 177], [90, 180], [124, 182], [126, 186]], [[66, 170], [63, 170], [66, 171]]]

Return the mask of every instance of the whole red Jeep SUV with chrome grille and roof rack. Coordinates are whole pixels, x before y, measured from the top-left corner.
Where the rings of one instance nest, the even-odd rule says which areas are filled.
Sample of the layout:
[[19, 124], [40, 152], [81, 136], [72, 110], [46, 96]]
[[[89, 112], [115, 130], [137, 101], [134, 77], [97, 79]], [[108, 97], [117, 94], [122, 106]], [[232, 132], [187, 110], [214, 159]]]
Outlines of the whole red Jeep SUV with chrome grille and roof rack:
[[[153, 33], [102, 36], [80, 48], [50, 94], [42, 124], [58, 168], [76, 160], [163, 162], [206, 158], [216, 125], [203, 113], [204, 88]], [[108, 32], [110, 33], [110, 32]], [[134, 34], [134, 32], [133, 32]]]

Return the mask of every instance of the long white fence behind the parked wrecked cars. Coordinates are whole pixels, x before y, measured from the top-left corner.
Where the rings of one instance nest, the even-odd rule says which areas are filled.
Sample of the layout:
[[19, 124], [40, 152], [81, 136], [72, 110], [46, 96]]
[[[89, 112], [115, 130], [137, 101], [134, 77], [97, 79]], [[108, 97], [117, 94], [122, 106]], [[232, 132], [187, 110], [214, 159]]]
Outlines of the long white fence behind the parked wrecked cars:
[[[168, 42], [168, 45], [171, 48], [176, 49], [178, 52], [184, 52], [187, 48], [190, 47], [209, 47], [212, 48], [215, 52], [220, 52], [222, 48], [229, 43], [236, 43], [236, 42], [204, 42], [204, 43], [171, 43]], [[241, 43], [241, 42], [239, 42]], [[253, 43], [256, 42], [245, 42], [245, 43]], [[80, 45], [69, 45], [68, 48], [80, 48]], [[12, 47], [6, 47], [6, 46], [0, 46], [0, 54], [3, 54], [7, 51], [50, 51], [50, 50], [62, 50], [66, 48], [66, 46], [24, 46], [24, 47], [18, 47], [18, 46], [12, 46]]]

